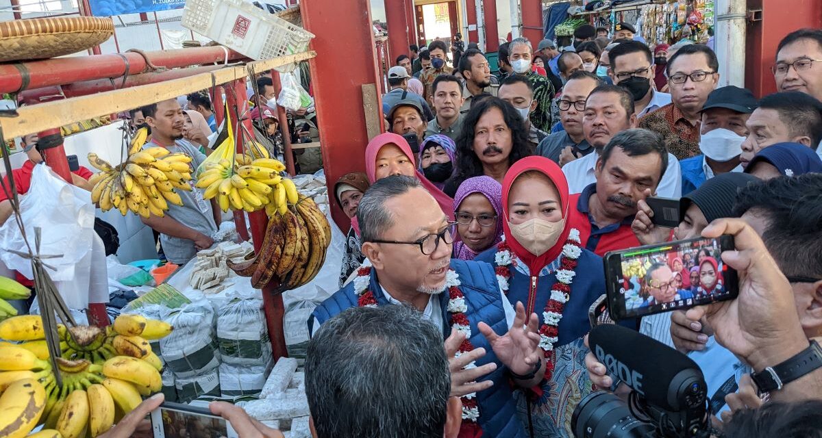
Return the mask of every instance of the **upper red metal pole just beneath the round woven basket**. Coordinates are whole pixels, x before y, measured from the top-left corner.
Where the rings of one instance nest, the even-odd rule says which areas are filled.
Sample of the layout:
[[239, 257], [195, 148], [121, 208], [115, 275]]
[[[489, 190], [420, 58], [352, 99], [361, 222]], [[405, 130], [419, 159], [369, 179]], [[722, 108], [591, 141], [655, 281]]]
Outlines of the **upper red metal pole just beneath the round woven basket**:
[[[121, 55], [128, 60], [128, 68]], [[154, 66], [169, 69], [221, 64], [225, 59], [225, 52], [219, 46], [145, 52], [145, 55]], [[229, 49], [229, 61], [239, 59], [245, 57]], [[26, 90], [33, 90], [78, 81], [108, 80], [109, 77], [121, 77], [123, 73], [136, 75], [149, 70], [145, 58], [135, 52], [0, 64], [0, 93], [16, 93], [24, 84]]]

